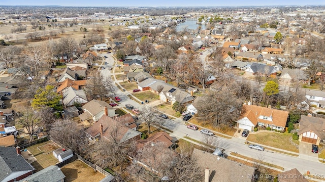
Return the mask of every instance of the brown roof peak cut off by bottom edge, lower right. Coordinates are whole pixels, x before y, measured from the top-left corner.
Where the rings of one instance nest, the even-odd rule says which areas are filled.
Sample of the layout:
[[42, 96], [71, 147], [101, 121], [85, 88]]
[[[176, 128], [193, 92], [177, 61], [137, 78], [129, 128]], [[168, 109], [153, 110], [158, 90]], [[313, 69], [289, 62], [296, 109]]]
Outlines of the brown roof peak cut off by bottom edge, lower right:
[[[290, 177], [293, 176], [293, 177]], [[308, 182], [306, 176], [302, 175], [297, 168], [278, 174], [277, 182]]]

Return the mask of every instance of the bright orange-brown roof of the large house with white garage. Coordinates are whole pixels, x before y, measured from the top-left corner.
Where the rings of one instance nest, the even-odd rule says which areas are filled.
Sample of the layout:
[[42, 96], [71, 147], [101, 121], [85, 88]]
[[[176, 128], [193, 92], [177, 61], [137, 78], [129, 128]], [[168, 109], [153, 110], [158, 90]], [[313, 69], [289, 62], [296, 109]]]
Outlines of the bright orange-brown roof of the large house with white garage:
[[[281, 111], [277, 109], [270, 109], [261, 106], [254, 105], [244, 105], [242, 110], [242, 116], [247, 117], [254, 125], [257, 125], [257, 122], [262, 122], [265, 124], [271, 124], [275, 126], [285, 127], [289, 112]], [[260, 119], [259, 116], [271, 117], [272, 121]]]

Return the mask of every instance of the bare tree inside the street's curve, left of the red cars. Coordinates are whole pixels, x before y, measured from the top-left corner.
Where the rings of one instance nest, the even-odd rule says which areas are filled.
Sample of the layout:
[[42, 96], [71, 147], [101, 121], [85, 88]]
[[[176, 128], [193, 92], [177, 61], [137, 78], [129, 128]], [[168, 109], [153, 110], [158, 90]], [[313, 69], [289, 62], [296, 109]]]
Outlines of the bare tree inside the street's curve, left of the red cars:
[[98, 70], [93, 70], [89, 75], [91, 79], [87, 80], [85, 88], [89, 100], [114, 96], [115, 87], [110, 77], [104, 78]]

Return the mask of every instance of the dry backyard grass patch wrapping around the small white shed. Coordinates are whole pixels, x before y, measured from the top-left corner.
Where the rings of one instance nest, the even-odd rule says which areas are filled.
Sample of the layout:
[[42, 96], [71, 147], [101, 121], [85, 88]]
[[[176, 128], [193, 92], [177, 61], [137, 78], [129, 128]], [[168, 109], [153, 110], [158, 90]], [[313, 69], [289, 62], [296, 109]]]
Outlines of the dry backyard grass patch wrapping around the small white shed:
[[50, 165], [55, 165], [58, 162], [58, 160], [53, 156], [52, 153], [44, 154], [41, 150], [38, 149], [38, 147], [50, 143], [53, 142], [47, 141], [27, 148], [27, 150], [36, 158], [36, 161], [32, 162], [31, 165], [33, 165], [38, 171]]

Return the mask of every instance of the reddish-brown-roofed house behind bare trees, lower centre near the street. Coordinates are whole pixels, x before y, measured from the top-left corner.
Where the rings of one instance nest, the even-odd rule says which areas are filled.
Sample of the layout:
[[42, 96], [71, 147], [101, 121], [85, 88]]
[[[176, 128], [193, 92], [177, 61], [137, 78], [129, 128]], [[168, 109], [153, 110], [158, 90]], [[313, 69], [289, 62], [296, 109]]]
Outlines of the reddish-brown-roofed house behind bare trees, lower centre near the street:
[[173, 138], [165, 131], [156, 132], [144, 140], [137, 140], [137, 148], [141, 149], [145, 145], [155, 145], [157, 142], [163, 143], [166, 148], [173, 147], [175, 143]]

